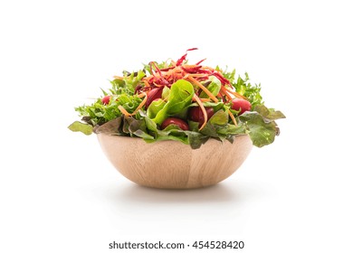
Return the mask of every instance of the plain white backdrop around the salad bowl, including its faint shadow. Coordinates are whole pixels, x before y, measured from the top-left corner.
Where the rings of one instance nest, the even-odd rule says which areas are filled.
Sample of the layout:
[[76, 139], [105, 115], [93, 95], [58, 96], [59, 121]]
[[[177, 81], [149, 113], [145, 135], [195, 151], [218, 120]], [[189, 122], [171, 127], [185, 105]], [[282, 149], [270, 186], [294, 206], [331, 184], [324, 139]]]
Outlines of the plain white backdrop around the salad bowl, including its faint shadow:
[[[159, 239], [353, 252], [349, 1], [0, 3], [1, 252], [133, 252], [108, 246]], [[113, 75], [192, 47], [191, 62], [248, 71], [288, 117], [224, 183], [139, 187], [95, 136], [66, 128]]]

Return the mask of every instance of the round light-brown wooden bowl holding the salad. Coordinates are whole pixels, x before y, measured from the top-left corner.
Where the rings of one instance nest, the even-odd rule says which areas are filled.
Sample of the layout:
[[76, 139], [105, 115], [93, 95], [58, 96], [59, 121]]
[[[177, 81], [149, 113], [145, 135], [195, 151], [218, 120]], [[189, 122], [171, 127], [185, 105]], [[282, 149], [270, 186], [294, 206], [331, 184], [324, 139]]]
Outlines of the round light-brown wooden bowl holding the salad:
[[253, 148], [247, 135], [234, 143], [209, 139], [199, 149], [178, 141], [148, 144], [138, 137], [98, 134], [111, 164], [130, 181], [163, 189], [200, 188], [233, 174]]

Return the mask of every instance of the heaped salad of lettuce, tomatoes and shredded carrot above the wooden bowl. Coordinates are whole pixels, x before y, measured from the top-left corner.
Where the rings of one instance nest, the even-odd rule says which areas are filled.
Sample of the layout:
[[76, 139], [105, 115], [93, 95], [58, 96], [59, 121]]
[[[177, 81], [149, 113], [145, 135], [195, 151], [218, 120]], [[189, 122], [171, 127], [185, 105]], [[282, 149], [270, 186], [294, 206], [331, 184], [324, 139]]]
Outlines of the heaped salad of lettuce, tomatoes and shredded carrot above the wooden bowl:
[[177, 61], [151, 61], [142, 70], [114, 76], [111, 88], [91, 105], [75, 108], [81, 121], [69, 128], [85, 135], [106, 133], [143, 138], [146, 142], [176, 140], [199, 148], [209, 138], [230, 141], [249, 135], [253, 145], [272, 144], [280, 134], [281, 111], [266, 108], [260, 84], [235, 70], [189, 64], [187, 52]]

